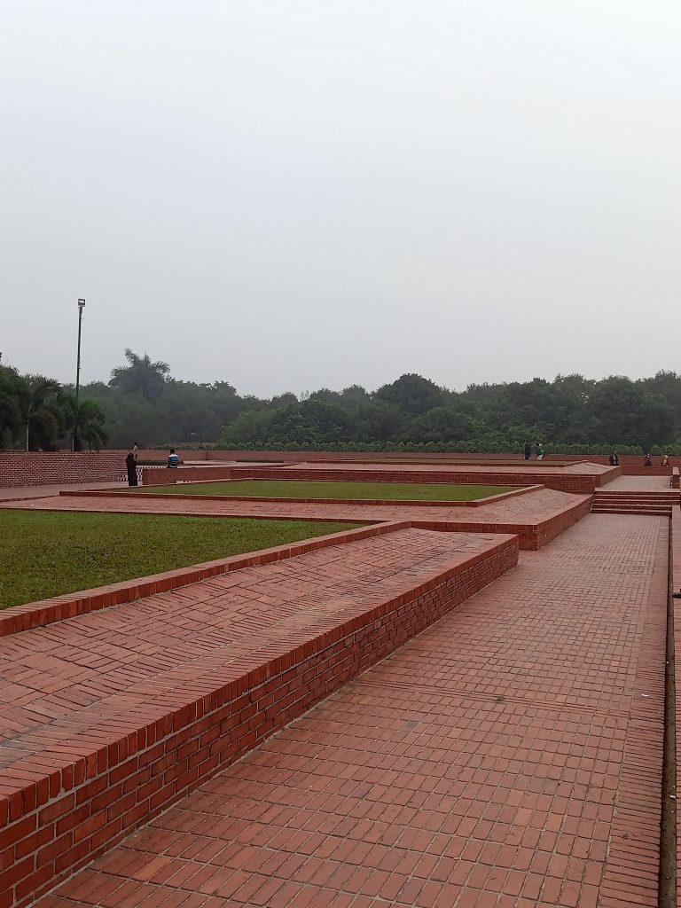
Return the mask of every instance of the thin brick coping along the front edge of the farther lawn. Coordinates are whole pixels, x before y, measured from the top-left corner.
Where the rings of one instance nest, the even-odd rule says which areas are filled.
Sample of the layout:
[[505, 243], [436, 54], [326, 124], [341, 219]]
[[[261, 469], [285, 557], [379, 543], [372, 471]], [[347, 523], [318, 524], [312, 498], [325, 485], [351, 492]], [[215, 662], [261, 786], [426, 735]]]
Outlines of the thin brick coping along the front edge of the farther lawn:
[[[240, 479], [211, 479], [211, 482], [240, 482]], [[255, 482], [266, 481], [261, 479], [253, 480]], [[185, 483], [188, 485], [189, 483]], [[193, 482], [192, 482], [193, 484]], [[181, 483], [182, 485], [182, 483]], [[153, 488], [153, 487], [151, 487]], [[229, 498], [230, 501], [270, 501], [270, 502], [291, 502], [292, 504], [321, 504], [321, 505], [425, 505], [428, 508], [479, 508], [481, 505], [488, 505], [503, 498], [515, 498], [518, 495], [527, 495], [528, 492], [536, 492], [539, 489], [546, 489], [546, 486], [523, 486], [522, 489], [513, 489], [509, 492], [500, 492], [498, 495], [488, 495], [486, 498], [473, 498], [470, 501], [441, 501], [421, 500], [420, 498], [289, 498], [287, 497], [270, 497], [264, 495], [187, 495], [181, 491], [177, 492], [143, 492], [144, 498], [180, 498], [195, 501], [196, 498], [208, 501], [222, 501]], [[84, 489], [77, 491], [73, 489], [63, 489], [60, 496], [73, 498], [138, 498], [140, 492], [132, 492], [128, 489]]]

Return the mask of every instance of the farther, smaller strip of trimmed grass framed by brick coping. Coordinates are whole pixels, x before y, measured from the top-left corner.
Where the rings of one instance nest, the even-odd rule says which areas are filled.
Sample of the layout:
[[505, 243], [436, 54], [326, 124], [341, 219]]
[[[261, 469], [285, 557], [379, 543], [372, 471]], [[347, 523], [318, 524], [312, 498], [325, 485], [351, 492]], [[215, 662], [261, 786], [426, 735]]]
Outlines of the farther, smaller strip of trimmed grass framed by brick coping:
[[472, 501], [510, 492], [517, 486], [456, 486], [420, 482], [308, 482], [300, 479], [242, 479], [235, 482], [197, 482], [147, 486], [141, 492], [176, 495], [255, 495], [265, 498], [373, 498], [419, 501]]

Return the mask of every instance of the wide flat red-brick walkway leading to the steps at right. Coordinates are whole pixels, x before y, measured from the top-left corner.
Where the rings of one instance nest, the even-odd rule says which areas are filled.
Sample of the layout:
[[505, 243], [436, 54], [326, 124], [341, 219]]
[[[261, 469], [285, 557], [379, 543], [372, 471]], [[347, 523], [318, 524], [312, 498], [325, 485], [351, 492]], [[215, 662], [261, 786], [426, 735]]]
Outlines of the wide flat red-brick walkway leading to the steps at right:
[[667, 525], [521, 554], [38, 905], [655, 905]]

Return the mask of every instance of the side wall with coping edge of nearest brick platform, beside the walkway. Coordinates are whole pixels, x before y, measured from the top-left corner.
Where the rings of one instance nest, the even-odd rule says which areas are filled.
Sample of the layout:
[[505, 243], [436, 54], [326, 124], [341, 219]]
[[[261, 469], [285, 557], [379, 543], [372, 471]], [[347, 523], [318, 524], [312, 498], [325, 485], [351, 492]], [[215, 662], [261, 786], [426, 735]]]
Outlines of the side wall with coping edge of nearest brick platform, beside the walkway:
[[145, 709], [0, 774], [0, 905], [20, 908], [313, 704], [390, 655], [518, 560], [501, 537], [399, 595], [343, 604], [288, 638], [163, 689]]

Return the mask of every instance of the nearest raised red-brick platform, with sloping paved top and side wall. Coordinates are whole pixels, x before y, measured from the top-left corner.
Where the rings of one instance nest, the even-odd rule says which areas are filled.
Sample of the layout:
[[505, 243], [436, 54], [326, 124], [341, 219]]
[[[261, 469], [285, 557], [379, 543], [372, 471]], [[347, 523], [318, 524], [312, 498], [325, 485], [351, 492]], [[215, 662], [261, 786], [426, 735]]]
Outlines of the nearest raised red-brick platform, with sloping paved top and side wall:
[[0, 905], [103, 854], [517, 559], [513, 537], [392, 528], [3, 638]]

